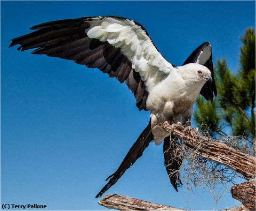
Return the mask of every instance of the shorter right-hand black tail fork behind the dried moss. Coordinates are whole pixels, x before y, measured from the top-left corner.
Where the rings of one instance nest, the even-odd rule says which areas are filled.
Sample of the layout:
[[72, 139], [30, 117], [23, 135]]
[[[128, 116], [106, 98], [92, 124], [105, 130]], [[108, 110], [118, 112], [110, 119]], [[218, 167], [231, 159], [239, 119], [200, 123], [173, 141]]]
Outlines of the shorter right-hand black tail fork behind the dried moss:
[[164, 138], [164, 164], [172, 186], [178, 192], [178, 187], [182, 186], [180, 180], [179, 169], [182, 165], [180, 158], [180, 151], [178, 148], [178, 139], [174, 136], [167, 136]]

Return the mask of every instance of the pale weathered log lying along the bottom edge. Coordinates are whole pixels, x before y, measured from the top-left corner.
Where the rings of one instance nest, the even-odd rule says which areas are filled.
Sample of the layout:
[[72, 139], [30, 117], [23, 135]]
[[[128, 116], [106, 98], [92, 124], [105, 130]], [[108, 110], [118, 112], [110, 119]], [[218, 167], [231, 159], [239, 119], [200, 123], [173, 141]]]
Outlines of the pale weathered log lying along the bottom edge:
[[[166, 210], [166, 211], [187, 211], [176, 207], [170, 207], [159, 203], [147, 202], [141, 199], [131, 198], [123, 195], [106, 195], [98, 203], [104, 207], [116, 210]], [[232, 207], [222, 211], [244, 211], [244, 206]]]

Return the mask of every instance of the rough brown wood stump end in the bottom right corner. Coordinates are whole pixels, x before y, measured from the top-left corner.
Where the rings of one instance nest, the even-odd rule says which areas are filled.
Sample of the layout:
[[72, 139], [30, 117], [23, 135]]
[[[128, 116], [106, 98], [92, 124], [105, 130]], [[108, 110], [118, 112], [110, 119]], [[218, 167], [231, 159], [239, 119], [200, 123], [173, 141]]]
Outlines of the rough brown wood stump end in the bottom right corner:
[[256, 210], [255, 179], [234, 185], [230, 190], [232, 197], [239, 200], [249, 210]]

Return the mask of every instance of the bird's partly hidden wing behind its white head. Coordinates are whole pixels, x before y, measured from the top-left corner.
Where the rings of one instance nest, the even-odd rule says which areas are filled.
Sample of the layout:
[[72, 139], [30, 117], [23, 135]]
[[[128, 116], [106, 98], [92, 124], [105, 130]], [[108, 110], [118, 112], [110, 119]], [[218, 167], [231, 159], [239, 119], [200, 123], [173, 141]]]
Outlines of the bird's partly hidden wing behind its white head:
[[[214, 95], [217, 95], [216, 84], [214, 80], [214, 71], [213, 71], [213, 63], [212, 63], [212, 46], [209, 42], [202, 43], [199, 45], [190, 56], [184, 61], [183, 65], [188, 63], [199, 63], [207, 67], [212, 74], [212, 82], [206, 82], [200, 94], [204, 96], [207, 100], [212, 101]], [[214, 94], [214, 95], [213, 95]]]

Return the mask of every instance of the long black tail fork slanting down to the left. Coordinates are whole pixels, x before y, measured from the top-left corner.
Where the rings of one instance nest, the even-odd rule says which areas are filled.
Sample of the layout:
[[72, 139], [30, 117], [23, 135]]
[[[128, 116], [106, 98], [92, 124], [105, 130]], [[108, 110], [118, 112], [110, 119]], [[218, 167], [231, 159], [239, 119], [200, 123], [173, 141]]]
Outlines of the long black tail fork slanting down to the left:
[[131, 149], [128, 151], [127, 155], [123, 159], [121, 165], [116, 170], [115, 173], [111, 174], [106, 181], [108, 183], [101, 189], [97, 194], [96, 198], [102, 196], [112, 185], [114, 185], [120, 177], [125, 173], [125, 171], [132, 166], [135, 161], [140, 158], [143, 154], [143, 151], [148, 147], [149, 143], [154, 139], [151, 130], [151, 119], [147, 127], [143, 130], [141, 135], [138, 137], [136, 142], [132, 145]]

